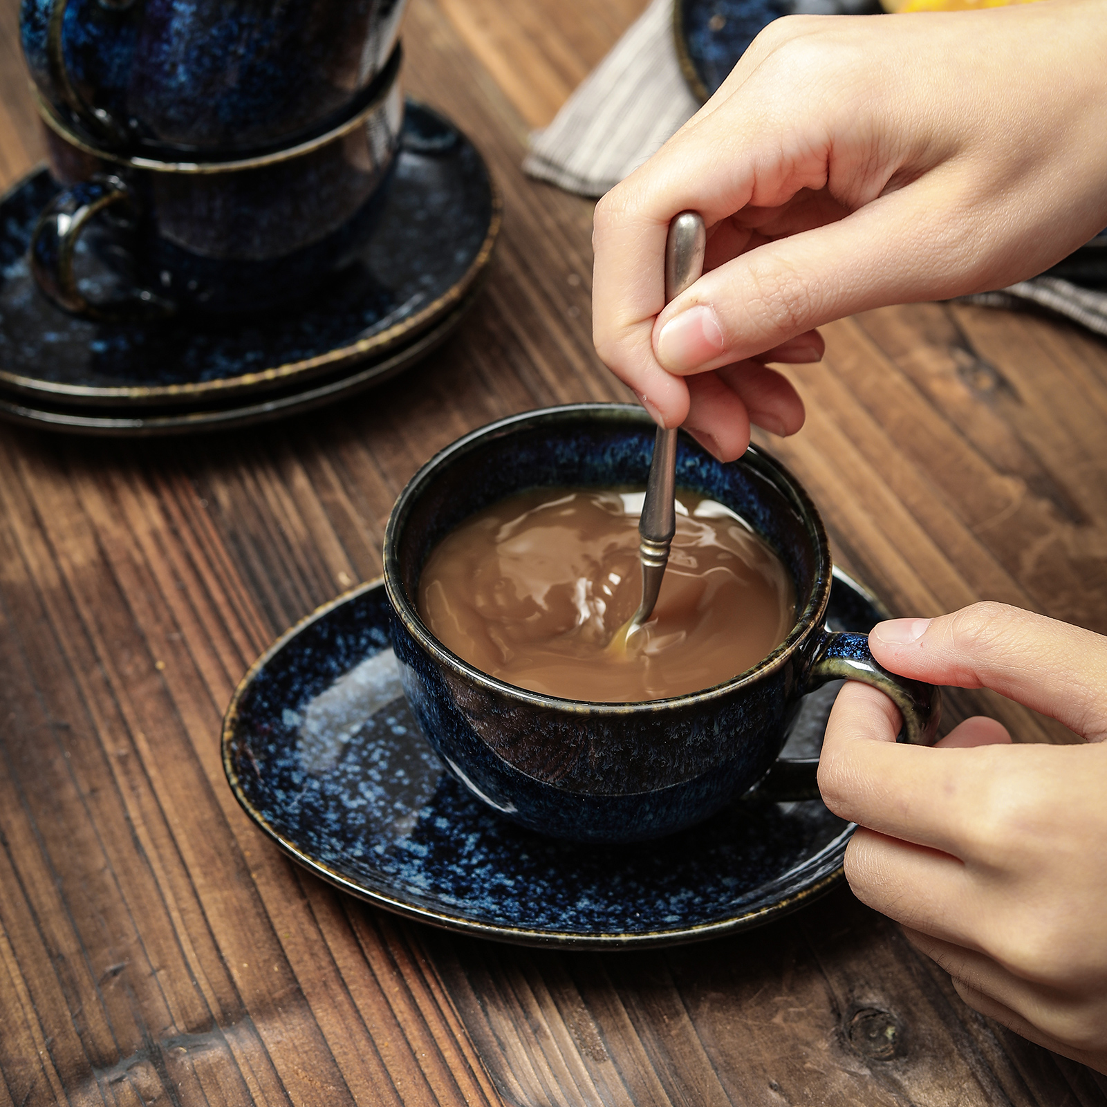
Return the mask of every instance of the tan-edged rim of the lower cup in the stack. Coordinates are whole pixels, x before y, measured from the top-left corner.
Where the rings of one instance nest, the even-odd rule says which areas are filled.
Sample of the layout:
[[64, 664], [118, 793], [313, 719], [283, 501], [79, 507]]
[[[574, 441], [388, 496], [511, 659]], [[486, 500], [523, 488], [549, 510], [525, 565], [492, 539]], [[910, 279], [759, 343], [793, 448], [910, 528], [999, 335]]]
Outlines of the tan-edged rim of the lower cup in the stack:
[[154, 157], [144, 157], [141, 154], [123, 154], [114, 151], [102, 149], [99, 146], [86, 142], [76, 134], [58, 114], [58, 110], [43, 95], [35, 84], [31, 84], [31, 92], [34, 96], [35, 106], [43, 123], [53, 131], [60, 138], [74, 146], [76, 149], [103, 162], [112, 162], [115, 165], [125, 166], [130, 169], [145, 169], [148, 173], [179, 173], [185, 175], [237, 173], [242, 169], [260, 169], [266, 166], [277, 165], [292, 158], [310, 154], [341, 138], [344, 134], [360, 126], [364, 121], [377, 113], [389, 97], [400, 87], [400, 69], [403, 61], [403, 45], [396, 42], [392, 48], [389, 60], [384, 63], [381, 72], [373, 80], [373, 83], [364, 91], [369, 100], [354, 112], [349, 118], [335, 124], [322, 134], [303, 139], [293, 146], [281, 147], [270, 151], [267, 154], [256, 154], [250, 157], [239, 157], [234, 159], [218, 161], [174, 161], [166, 162]]

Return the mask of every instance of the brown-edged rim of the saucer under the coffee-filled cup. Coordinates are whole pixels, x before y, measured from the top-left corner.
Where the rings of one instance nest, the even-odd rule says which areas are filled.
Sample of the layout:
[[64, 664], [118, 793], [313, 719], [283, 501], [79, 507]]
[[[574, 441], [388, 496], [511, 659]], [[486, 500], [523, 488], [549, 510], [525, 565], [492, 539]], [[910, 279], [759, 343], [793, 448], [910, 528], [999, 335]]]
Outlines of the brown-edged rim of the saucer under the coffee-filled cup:
[[[884, 611], [883, 604], [880, 603], [880, 601], [877, 600], [867, 588], [859, 584], [837, 567], [834, 567], [832, 569], [832, 577], [844, 583], [847, 588], [863, 597], [879, 613]], [[337, 597], [328, 600], [325, 603], [321, 603], [309, 614], [293, 623], [288, 630], [284, 631], [283, 634], [277, 638], [277, 640], [272, 642], [272, 644], [246, 671], [245, 675], [235, 687], [235, 692], [224, 715], [223, 728], [220, 732], [220, 757], [223, 761], [224, 774], [227, 777], [227, 783], [232, 795], [235, 796], [235, 799], [263, 834], [276, 842], [276, 845], [280, 847], [280, 849], [283, 850], [284, 853], [287, 853], [293, 861], [308, 869], [309, 872], [314, 873], [320, 879], [325, 880], [329, 884], [373, 907], [383, 908], [403, 918], [435, 925], [443, 930], [508, 942], [516, 945], [577, 950], [631, 949], [642, 945], [664, 946], [708, 941], [726, 934], [751, 930], [786, 914], [790, 914], [793, 911], [796, 911], [799, 908], [805, 907], [807, 903], [826, 894], [841, 881], [845, 876], [844, 858], [846, 847], [849, 844], [853, 831], [857, 829], [857, 825], [853, 823], [847, 823], [841, 832], [831, 842], [824, 846], [823, 849], [805, 859], [803, 862], [804, 866], [818, 865], [819, 859], [823, 858], [823, 868], [825, 868], [827, 861], [835, 860], [837, 863], [835, 863], [834, 868], [829, 871], [823, 871], [821, 875], [815, 877], [810, 883], [801, 886], [789, 894], [786, 894], [772, 903], [763, 904], [755, 910], [742, 911], [727, 919], [696, 923], [672, 930], [649, 930], [633, 933], [602, 931], [568, 932], [478, 922], [462, 914], [449, 914], [442, 910], [422, 907], [417, 903], [396, 899], [395, 897], [374, 888], [360, 884], [349, 877], [335, 871], [325, 862], [306, 853], [299, 846], [296, 845], [296, 842], [284, 837], [280, 834], [280, 831], [270, 825], [269, 820], [247, 797], [240, 783], [238, 770], [235, 767], [231, 756], [231, 746], [235, 741], [235, 732], [239, 717], [239, 705], [242, 697], [252, 685], [258, 673], [260, 673], [261, 670], [265, 669], [265, 666], [269, 664], [269, 662], [272, 661], [273, 658], [281, 652], [281, 650], [284, 649], [286, 645], [299, 637], [302, 631], [304, 631], [312, 623], [324, 618], [330, 612], [334, 611], [337, 608], [340, 608], [343, 604], [349, 603], [364, 593], [377, 588], [384, 588], [383, 576], [374, 577], [372, 580], [363, 581], [360, 584], [355, 584], [353, 588], [340, 592]], [[785, 876], [787, 876], [787, 873], [782, 873], [782, 876], [776, 879], [782, 879]], [[772, 883], [772, 881], [766, 881], [766, 883]]]

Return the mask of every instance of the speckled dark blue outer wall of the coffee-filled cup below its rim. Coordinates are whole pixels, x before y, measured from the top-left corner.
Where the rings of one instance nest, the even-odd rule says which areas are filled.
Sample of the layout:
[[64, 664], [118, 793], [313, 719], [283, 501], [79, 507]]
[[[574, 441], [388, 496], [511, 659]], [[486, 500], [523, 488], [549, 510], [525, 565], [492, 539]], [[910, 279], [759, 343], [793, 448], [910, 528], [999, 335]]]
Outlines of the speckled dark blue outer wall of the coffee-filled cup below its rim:
[[[638, 841], [687, 827], [761, 777], [799, 704], [794, 671], [705, 721], [532, 714], [451, 682], [393, 621], [412, 714], [451, 770], [485, 803], [534, 830], [583, 841]], [[600, 790], [600, 789], [604, 790]]]

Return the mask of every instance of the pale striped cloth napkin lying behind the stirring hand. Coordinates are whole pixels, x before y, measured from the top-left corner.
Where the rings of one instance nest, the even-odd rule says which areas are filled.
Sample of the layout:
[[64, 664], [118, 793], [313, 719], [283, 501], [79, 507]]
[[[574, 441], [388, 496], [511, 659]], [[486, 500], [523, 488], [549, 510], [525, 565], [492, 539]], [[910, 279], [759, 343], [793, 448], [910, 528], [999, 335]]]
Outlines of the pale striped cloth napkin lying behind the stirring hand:
[[[673, 0], [651, 0], [554, 122], [530, 136], [523, 168], [567, 192], [602, 196], [655, 154], [699, 107], [676, 60]], [[1036, 306], [1107, 335], [1107, 292], [1059, 277], [1035, 277], [962, 302], [1014, 310]]]

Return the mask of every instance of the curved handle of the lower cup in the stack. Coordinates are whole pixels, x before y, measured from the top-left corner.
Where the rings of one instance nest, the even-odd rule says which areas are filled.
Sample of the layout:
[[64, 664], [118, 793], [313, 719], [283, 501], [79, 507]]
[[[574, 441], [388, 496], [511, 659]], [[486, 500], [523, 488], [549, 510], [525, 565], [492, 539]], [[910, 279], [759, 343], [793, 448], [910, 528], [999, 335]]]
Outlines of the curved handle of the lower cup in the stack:
[[43, 208], [31, 235], [28, 255], [39, 288], [70, 314], [96, 322], [165, 319], [176, 306], [146, 289], [135, 288], [120, 300], [93, 303], [85, 299], [73, 272], [73, 255], [89, 223], [113, 205], [135, 207], [126, 183], [116, 176], [95, 176], [59, 193]]

